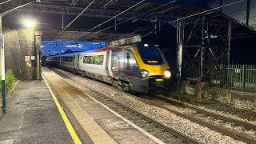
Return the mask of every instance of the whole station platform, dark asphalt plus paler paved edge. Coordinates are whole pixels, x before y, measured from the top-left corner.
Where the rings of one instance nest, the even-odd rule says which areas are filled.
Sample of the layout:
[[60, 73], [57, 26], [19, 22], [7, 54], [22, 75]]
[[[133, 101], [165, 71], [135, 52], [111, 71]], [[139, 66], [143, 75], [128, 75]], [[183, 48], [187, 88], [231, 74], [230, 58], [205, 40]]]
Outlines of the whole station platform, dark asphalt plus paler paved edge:
[[42, 75], [45, 81], [18, 82], [10, 95], [0, 144], [161, 143], [52, 71], [43, 68]]

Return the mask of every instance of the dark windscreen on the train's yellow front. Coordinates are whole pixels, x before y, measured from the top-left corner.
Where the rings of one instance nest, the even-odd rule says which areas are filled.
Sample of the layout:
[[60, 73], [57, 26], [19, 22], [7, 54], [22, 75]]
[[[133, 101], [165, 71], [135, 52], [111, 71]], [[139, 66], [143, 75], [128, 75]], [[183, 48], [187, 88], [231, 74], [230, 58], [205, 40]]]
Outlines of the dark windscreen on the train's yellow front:
[[142, 44], [142, 46], [138, 46], [138, 52], [144, 63], [149, 65], [162, 65], [162, 56], [157, 46]]

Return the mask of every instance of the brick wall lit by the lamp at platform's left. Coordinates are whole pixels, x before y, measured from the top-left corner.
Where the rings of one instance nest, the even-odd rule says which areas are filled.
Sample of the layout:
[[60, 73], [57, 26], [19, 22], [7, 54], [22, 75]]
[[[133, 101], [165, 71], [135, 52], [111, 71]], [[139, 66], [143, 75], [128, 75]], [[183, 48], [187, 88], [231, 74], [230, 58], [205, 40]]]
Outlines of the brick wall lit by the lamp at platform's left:
[[34, 30], [3, 29], [5, 38], [6, 70], [13, 70], [20, 80], [35, 79], [35, 63], [27, 67], [25, 56], [34, 55]]

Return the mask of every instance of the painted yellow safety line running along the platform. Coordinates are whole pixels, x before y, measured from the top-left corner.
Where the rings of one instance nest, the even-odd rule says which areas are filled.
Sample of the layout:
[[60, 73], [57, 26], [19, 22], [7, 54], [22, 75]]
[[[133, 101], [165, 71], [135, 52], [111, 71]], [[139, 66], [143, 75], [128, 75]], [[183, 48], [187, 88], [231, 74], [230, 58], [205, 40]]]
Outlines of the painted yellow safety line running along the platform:
[[[46, 78], [44, 78], [43, 75], [42, 75], [42, 78], [43, 78], [43, 80], [46, 82]], [[49, 86], [48, 82], [46, 82], [46, 86], [48, 87], [51, 96], [54, 98], [54, 102], [55, 102], [56, 106], [58, 107], [59, 113], [62, 115], [62, 119], [63, 119], [63, 121], [65, 122], [66, 128], [67, 128], [67, 130], [69, 131], [69, 133], [70, 133], [70, 135], [71, 135], [71, 137], [72, 137], [74, 143], [75, 143], [75, 144], [80, 144], [80, 143], [82, 143], [82, 142], [80, 141], [80, 139], [78, 138], [78, 134], [76, 134], [76, 132], [74, 131], [74, 128], [73, 128], [73, 126], [72, 126], [71, 123], [70, 123], [70, 120], [66, 117], [66, 114], [65, 114], [64, 110], [62, 109], [62, 106], [59, 104], [58, 99], [56, 98], [56, 96], [55, 96], [55, 94], [53, 93], [53, 91], [50, 89], [50, 86]]]

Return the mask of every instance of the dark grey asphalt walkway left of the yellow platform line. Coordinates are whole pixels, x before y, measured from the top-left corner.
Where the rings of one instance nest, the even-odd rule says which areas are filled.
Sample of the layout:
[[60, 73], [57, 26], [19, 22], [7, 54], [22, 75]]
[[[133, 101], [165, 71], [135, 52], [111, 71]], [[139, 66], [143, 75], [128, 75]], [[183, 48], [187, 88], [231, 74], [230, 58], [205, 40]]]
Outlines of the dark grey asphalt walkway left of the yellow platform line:
[[0, 119], [2, 143], [73, 143], [44, 81], [18, 82]]

